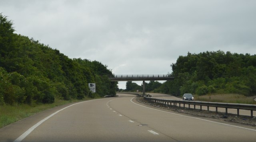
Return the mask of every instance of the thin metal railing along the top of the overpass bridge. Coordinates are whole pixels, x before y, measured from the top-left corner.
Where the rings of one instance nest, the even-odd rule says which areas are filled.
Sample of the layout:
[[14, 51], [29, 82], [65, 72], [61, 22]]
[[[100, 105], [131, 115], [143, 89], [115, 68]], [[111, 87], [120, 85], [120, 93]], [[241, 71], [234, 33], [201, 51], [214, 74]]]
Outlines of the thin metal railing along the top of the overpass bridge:
[[169, 78], [170, 74], [118, 74], [111, 78]]

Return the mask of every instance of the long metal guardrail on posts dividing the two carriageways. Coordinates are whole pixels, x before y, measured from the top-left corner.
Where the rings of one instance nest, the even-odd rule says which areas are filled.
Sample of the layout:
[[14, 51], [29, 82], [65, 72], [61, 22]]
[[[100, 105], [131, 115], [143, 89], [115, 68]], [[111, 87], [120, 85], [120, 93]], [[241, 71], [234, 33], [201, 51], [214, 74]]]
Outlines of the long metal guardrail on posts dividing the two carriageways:
[[185, 107], [185, 104], [188, 105], [190, 108], [190, 105], [194, 105], [194, 109], [196, 109], [196, 105], [200, 106], [200, 110], [202, 110], [202, 106], [206, 106], [207, 110], [209, 111], [209, 107], [216, 107], [216, 113], [218, 113], [218, 107], [226, 108], [226, 114], [228, 114], [228, 109], [237, 109], [237, 116], [239, 116], [239, 110], [250, 110], [251, 111], [251, 117], [253, 117], [253, 111], [256, 111], [256, 105], [250, 105], [250, 104], [241, 104], [241, 103], [216, 103], [216, 102], [204, 102], [204, 101], [182, 101], [182, 100], [170, 100], [170, 99], [156, 99], [151, 97], [144, 96], [145, 99], [150, 100], [153, 103], [161, 103], [165, 105], [172, 105], [172, 103], [177, 106], [177, 103], [183, 104], [183, 107]]

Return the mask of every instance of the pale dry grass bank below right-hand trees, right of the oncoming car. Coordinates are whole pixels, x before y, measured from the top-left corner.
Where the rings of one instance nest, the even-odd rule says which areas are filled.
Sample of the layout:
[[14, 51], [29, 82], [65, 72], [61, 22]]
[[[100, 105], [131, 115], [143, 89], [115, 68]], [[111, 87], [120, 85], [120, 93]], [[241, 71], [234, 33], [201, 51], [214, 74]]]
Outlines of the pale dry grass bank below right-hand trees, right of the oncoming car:
[[247, 97], [239, 94], [208, 94], [202, 96], [194, 95], [194, 97], [195, 101], [256, 104], [256, 101], [254, 101], [256, 96]]

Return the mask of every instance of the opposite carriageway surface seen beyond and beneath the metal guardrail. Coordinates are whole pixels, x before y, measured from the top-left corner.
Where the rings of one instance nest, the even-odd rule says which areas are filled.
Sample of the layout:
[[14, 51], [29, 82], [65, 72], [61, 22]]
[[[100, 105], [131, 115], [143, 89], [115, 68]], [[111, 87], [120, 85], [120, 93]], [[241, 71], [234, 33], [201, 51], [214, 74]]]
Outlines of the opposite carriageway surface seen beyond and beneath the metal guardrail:
[[[173, 99], [173, 100], [182, 100], [181, 98], [172, 96], [172, 95], [167, 95], [167, 94], [162, 94], [162, 93], [147, 93], [152, 95], [152, 98], [158, 98], [158, 99]], [[183, 107], [183, 105], [181, 106]], [[185, 105], [185, 107], [188, 107], [188, 105]], [[194, 108], [194, 105], [190, 105], [190, 108]], [[200, 109], [199, 105], [196, 105], [196, 109]], [[202, 106], [203, 110], [207, 110], [207, 107]], [[216, 111], [215, 107], [209, 107], [210, 111]], [[218, 108], [218, 112], [222, 112], [225, 113], [226, 109], [225, 108]], [[228, 109], [228, 113], [232, 113], [232, 114], [237, 114], [237, 110], [236, 109]], [[247, 115], [250, 116], [251, 112], [249, 110], [239, 110], [239, 115]], [[256, 111], [253, 111], [253, 116], [256, 117]]]

